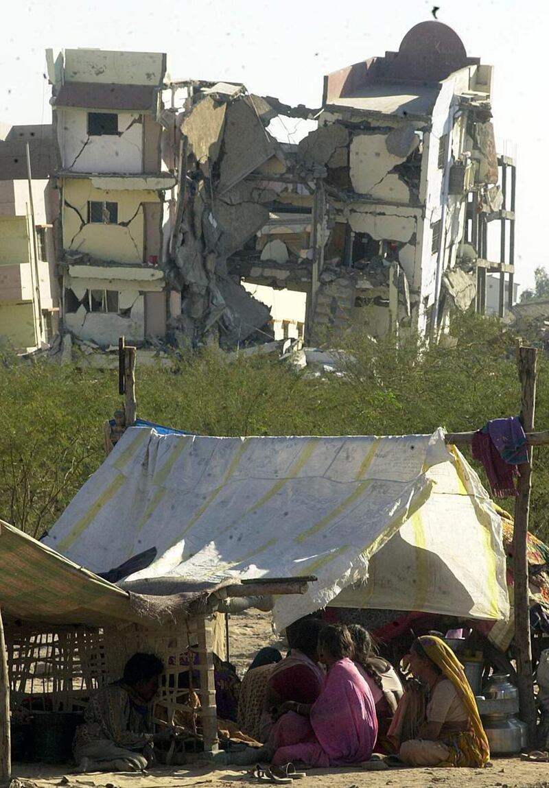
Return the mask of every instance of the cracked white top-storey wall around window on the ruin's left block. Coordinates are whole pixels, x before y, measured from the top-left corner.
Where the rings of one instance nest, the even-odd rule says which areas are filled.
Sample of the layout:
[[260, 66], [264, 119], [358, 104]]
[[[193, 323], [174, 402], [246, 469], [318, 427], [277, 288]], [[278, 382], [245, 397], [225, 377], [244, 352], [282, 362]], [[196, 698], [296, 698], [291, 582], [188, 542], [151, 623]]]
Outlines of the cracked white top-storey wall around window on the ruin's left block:
[[88, 112], [58, 113], [58, 141], [63, 169], [74, 173], [142, 173], [143, 116], [118, 113], [118, 135], [88, 135]]

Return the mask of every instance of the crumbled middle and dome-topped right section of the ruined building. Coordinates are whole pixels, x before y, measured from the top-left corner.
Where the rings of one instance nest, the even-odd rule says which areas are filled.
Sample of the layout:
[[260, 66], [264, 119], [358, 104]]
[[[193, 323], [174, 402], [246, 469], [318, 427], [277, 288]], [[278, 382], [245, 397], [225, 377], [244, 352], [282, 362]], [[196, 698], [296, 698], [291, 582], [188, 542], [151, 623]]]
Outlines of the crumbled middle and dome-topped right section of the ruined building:
[[[372, 336], [436, 335], [452, 308], [484, 311], [487, 271], [509, 274], [513, 292], [513, 261], [487, 254], [488, 221], [512, 222], [514, 237], [492, 71], [446, 25], [424, 22], [398, 52], [328, 75], [317, 110], [242, 85], [177, 84], [181, 331], [234, 344], [261, 329], [267, 315], [241, 281], [306, 292], [309, 339], [356, 321]], [[317, 128], [281, 143], [269, 130], [281, 115]]]

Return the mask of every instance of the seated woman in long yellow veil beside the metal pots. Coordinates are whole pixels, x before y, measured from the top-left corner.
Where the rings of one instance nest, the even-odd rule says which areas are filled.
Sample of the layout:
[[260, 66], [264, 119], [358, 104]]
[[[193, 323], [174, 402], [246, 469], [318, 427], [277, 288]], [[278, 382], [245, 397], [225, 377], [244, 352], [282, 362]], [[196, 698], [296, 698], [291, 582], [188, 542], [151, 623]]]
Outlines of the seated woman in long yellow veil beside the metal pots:
[[418, 637], [409, 667], [427, 686], [427, 702], [424, 693], [406, 688], [387, 734], [400, 759], [409, 766], [484, 766], [490, 748], [452, 649], [439, 637]]

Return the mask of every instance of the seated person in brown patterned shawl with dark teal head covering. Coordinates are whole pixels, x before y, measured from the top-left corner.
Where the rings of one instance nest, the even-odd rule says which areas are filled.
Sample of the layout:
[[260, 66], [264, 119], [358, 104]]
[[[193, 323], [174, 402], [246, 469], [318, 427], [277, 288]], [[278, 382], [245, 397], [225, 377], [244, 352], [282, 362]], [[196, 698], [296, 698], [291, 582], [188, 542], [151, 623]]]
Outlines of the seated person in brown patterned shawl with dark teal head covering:
[[238, 695], [238, 727], [256, 741], [261, 735], [261, 715], [265, 704], [267, 682], [275, 665], [282, 660], [278, 649], [266, 646], [257, 652], [252, 664], [242, 679]]

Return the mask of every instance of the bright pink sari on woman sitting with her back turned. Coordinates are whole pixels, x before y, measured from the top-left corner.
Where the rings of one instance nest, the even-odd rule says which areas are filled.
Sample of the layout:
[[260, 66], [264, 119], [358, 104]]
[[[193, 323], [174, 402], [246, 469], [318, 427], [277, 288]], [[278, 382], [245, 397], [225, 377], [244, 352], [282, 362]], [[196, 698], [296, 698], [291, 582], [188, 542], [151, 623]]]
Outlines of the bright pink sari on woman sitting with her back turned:
[[356, 665], [345, 657], [328, 671], [309, 719], [288, 712], [275, 729], [274, 764], [303, 760], [326, 768], [368, 760], [377, 737], [372, 692]]

